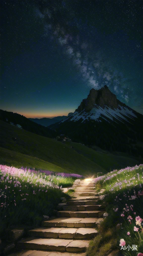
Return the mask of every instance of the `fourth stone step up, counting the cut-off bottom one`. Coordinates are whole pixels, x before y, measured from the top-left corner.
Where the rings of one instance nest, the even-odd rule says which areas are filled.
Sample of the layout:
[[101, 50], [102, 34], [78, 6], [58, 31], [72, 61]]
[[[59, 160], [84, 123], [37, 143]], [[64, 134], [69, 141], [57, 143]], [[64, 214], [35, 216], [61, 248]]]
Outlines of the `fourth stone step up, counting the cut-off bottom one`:
[[97, 227], [103, 218], [55, 218], [42, 222], [43, 227]]

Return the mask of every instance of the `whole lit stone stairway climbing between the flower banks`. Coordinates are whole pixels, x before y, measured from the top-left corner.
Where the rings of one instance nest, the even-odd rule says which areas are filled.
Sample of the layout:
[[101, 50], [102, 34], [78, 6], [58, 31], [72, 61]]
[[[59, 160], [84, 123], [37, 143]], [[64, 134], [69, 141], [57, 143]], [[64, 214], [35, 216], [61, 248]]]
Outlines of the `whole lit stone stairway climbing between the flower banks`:
[[28, 231], [30, 237], [17, 243], [20, 251], [9, 256], [85, 256], [85, 250], [97, 235], [104, 208], [92, 179], [74, 182], [74, 198], [58, 206], [57, 217]]

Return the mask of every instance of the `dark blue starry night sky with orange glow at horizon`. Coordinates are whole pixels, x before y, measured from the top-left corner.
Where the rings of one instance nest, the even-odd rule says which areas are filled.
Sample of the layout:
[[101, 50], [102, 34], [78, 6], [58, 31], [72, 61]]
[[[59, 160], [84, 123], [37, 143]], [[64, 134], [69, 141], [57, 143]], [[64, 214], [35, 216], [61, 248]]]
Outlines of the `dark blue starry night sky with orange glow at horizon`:
[[142, 0], [1, 0], [0, 109], [74, 112], [105, 84], [143, 114]]

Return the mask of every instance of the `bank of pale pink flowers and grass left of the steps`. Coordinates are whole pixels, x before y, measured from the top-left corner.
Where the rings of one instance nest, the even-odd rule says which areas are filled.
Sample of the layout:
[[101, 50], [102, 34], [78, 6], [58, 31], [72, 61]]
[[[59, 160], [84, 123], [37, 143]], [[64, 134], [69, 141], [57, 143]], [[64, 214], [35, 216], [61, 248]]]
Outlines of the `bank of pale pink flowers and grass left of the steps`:
[[77, 178], [79, 175], [0, 165], [0, 238], [15, 224], [38, 226], [43, 215], [50, 216], [66, 196], [62, 186], [71, 186]]

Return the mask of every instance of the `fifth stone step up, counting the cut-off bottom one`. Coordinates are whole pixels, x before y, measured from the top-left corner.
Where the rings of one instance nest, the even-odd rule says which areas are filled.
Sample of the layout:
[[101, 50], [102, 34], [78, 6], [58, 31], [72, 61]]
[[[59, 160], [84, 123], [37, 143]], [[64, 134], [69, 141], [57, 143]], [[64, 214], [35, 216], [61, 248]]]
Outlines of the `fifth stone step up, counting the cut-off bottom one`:
[[88, 211], [69, 211], [62, 210], [56, 212], [58, 217], [71, 217], [71, 218], [94, 218], [102, 217], [105, 211], [88, 210]]

